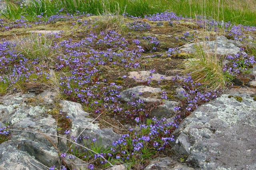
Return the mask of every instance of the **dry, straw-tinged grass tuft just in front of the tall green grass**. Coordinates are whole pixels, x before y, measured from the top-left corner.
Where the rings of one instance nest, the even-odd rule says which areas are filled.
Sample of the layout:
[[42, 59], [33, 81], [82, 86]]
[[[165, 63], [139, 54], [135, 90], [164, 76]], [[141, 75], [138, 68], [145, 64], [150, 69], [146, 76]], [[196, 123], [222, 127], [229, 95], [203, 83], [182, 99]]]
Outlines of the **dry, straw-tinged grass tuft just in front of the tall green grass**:
[[124, 16], [119, 15], [119, 6], [116, 7], [116, 11], [114, 13], [111, 13], [109, 7], [106, 8], [104, 4], [103, 7], [103, 14], [100, 14], [99, 12], [98, 20], [96, 20], [92, 25], [96, 26], [96, 30], [98, 31], [114, 31], [120, 33], [124, 28]]

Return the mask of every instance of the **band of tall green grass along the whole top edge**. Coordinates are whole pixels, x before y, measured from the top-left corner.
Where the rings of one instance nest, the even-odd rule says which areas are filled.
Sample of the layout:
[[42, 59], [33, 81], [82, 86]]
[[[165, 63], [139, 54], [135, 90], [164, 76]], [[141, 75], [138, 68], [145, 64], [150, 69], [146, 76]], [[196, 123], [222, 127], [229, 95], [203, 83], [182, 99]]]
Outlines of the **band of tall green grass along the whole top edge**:
[[[8, 3], [6, 12], [2, 11], [6, 18], [18, 18], [20, 14], [27, 16], [44, 14], [51, 16], [62, 12], [75, 13], [87, 12], [91, 14], [104, 13], [104, 6], [108, 6], [111, 13], [116, 13], [116, 6], [132, 16], [144, 16], [170, 10], [178, 15], [195, 17], [206, 11], [205, 16], [216, 18], [216, 5], [220, 1], [220, 16], [222, 20], [236, 24], [256, 25], [256, 0], [30, 0], [22, 8]], [[13, 16], [13, 17], [12, 17]]]

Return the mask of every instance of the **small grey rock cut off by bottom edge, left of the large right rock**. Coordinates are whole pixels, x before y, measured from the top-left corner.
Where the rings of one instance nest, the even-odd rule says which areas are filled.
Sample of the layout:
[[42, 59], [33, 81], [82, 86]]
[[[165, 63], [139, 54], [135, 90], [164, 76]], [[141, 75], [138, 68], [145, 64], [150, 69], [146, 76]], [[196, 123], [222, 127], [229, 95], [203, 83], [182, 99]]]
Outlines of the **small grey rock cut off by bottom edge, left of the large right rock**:
[[152, 159], [145, 170], [194, 170], [194, 168], [176, 162], [170, 157], [158, 157]]

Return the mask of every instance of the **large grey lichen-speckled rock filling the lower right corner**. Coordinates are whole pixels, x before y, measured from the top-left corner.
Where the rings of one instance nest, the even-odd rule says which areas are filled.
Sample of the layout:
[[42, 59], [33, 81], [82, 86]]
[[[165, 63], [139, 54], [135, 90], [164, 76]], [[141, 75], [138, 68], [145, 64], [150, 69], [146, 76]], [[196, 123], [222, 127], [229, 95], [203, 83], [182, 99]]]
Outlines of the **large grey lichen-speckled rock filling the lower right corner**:
[[196, 168], [256, 169], [256, 101], [240, 92], [198, 107], [174, 131], [174, 151], [188, 154]]

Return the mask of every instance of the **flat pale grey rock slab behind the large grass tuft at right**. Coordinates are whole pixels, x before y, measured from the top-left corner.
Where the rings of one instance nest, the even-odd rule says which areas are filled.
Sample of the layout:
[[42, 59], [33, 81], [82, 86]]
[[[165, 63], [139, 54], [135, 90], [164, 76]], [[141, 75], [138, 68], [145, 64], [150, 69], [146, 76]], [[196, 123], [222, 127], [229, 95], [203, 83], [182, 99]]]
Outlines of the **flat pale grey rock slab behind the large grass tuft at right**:
[[[205, 52], [215, 53], [215, 45], [217, 45], [216, 53], [220, 55], [234, 55], [240, 52], [240, 47], [242, 47], [242, 43], [235, 41], [235, 40], [228, 40], [225, 36], [219, 36], [216, 41], [205, 41], [205, 42], [198, 42], [196, 43], [189, 43], [184, 45], [180, 51], [187, 51], [187, 52], [195, 52], [196, 45], [201, 45], [202, 49], [204, 49], [205, 44]], [[200, 49], [200, 47], [199, 47]]]

